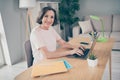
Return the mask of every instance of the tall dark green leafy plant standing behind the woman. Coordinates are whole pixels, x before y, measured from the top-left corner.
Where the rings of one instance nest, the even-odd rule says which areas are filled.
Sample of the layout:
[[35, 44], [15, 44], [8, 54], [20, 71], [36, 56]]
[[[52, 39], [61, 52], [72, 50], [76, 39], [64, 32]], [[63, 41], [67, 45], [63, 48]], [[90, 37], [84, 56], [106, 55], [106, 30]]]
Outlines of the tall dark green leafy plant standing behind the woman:
[[71, 25], [79, 21], [75, 16], [80, 9], [79, 0], [61, 0], [59, 3], [59, 20], [61, 30], [65, 29], [65, 36], [72, 36]]

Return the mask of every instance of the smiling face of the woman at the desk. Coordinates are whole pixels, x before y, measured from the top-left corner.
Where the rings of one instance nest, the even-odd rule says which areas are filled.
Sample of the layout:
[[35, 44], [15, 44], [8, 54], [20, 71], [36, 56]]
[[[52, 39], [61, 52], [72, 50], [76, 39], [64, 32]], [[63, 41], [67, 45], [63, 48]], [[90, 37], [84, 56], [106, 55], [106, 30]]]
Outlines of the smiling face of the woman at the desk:
[[52, 10], [48, 10], [45, 15], [43, 16], [43, 19], [42, 19], [42, 26], [45, 28], [45, 29], [48, 29], [54, 22], [54, 12]]

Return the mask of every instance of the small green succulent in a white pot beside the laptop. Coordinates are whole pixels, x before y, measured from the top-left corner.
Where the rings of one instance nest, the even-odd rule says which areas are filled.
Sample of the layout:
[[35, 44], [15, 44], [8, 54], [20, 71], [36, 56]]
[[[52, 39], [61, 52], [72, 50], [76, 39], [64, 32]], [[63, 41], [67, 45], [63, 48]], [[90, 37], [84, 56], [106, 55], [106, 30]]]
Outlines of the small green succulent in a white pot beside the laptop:
[[91, 53], [87, 58], [87, 62], [89, 66], [95, 67], [98, 64], [98, 59], [94, 53]]

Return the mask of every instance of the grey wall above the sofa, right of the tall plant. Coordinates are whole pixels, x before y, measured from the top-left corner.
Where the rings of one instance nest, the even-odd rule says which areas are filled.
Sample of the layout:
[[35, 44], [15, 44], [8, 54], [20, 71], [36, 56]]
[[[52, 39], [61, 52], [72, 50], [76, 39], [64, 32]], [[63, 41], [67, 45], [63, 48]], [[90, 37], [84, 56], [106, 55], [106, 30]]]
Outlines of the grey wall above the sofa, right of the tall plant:
[[120, 0], [80, 0], [77, 16], [120, 14]]

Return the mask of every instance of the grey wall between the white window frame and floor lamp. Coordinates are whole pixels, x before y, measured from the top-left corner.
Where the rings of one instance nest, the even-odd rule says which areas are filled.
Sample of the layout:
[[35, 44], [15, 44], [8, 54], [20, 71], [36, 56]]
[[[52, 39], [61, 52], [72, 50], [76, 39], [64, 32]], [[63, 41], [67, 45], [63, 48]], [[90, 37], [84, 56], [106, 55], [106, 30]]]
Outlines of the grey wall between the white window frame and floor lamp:
[[6, 39], [9, 48], [11, 64], [17, 63], [24, 59], [24, 36], [25, 15], [21, 15], [22, 11], [18, 6], [19, 0], [0, 0], [0, 12], [3, 18], [3, 25], [6, 33]]

